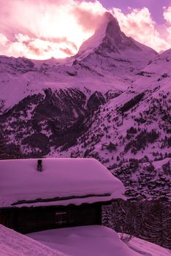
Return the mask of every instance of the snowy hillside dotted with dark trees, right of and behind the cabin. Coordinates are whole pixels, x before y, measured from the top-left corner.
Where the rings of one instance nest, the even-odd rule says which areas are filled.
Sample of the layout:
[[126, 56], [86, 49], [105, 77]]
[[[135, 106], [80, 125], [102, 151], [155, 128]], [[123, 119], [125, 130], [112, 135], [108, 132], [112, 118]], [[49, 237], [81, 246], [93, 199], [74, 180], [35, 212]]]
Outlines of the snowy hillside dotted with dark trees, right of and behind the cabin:
[[170, 91], [123, 93], [101, 105], [89, 122], [75, 146], [54, 148], [50, 155], [95, 157], [131, 189], [127, 195], [170, 197]]

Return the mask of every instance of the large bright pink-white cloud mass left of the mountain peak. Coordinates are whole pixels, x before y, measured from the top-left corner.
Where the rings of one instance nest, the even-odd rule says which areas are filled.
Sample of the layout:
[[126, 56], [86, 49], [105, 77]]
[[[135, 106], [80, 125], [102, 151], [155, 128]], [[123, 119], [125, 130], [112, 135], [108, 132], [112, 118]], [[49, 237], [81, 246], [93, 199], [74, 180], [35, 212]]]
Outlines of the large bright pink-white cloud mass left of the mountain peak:
[[74, 55], [82, 42], [94, 33], [105, 11], [99, 1], [0, 2], [0, 54], [31, 59]]

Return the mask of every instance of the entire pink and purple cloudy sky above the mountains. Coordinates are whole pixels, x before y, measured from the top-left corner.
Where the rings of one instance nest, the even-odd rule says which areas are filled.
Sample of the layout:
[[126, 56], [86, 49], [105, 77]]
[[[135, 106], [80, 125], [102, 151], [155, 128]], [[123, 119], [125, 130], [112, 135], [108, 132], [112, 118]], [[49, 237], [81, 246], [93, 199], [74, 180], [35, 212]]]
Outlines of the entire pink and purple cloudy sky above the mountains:
[[171, 48], [171, 0], [0, 0], [0, 54], [75, 55], [106, 11], [127, 36], [158, 52]]

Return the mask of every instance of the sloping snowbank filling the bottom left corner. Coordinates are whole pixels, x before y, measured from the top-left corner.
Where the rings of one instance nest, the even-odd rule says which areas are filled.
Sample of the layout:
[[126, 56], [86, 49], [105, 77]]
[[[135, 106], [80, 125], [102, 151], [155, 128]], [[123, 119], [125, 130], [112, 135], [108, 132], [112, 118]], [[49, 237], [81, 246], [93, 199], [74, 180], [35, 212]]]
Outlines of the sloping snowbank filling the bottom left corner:
[[0, 225], [0, 256], [66, 256]]

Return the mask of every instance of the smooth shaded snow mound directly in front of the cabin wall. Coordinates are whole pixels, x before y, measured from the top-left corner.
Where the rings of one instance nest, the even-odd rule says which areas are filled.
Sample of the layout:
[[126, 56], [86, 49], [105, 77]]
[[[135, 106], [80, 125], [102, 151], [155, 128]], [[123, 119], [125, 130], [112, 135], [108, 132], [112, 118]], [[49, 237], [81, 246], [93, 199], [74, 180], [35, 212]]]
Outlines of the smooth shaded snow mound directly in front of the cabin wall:
[[71, 256], [140, 256], [108, 227], [66, 227], [27, 236]]

